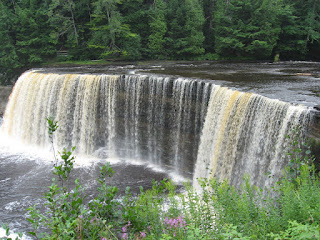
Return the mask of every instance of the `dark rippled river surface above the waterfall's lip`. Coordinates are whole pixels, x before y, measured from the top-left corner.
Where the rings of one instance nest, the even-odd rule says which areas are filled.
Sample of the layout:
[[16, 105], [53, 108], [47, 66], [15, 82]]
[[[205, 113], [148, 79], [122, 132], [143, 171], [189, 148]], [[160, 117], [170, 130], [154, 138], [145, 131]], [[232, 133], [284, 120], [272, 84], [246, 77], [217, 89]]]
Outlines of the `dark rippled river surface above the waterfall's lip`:
[[320, 102], [319, 62], [141, 62], [42, 70], [64, 73], [157, 74], [200, 78], [285, 102], [307, 106], [314, 106]]

